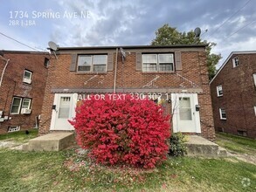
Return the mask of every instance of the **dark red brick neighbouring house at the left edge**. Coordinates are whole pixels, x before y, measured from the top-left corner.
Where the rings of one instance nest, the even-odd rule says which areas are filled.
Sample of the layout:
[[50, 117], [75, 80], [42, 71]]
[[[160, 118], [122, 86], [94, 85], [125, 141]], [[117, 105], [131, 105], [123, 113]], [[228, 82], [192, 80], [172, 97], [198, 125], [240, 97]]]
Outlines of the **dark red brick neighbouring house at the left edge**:
[[0, 52], [0, 134], [36, 127], [45, 93], [49, 53]]

